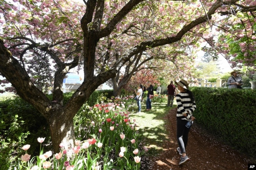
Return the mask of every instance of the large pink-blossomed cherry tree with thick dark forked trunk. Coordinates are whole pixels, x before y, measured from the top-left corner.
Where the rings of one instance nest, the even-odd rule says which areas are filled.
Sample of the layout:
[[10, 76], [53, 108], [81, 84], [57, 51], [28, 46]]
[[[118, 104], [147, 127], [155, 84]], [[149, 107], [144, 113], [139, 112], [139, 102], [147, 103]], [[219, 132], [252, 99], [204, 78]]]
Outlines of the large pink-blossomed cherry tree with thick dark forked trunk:
[[[256, 10], [253, 0], [83, 2], [0, 2], [0, 72], [21, 98], [45, 116], [54, 152], [59, 143], [65, 143], [65, 148], [74, 145], [76, 112], [122, 68], [150, 67], [142, 61], [159, 57], [176, 61], [179, 70], [189, 69], [186, 59], [193, 56], [186, 50], [195, 50], [205, 40], [214, 47], [213, 25], [223, 24], [219, 28], [225, 29], [232, 16], [255, 16]], [[76, 66], [83, 69], [83, 83], [64, 104], [63, 79]], [[177, 78], [182, 75], [177, 72]], [[46, 97], [44, 84], [53, 85], [52, 100]]]

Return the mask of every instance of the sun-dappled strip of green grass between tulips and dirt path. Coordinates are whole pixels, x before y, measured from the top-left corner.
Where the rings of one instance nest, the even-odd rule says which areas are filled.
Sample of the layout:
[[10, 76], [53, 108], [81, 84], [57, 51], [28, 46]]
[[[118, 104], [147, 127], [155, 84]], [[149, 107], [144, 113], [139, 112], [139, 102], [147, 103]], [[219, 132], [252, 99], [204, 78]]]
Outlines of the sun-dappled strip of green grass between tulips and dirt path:
[[[177, 107], [176, 101], [174, 100], [174, 107]], [[129, 107], [129, 111], [134, 110], [130, 114], [131, 119], [136, 119], [136, 130], [137, 134], [143, 145], [149, 148], [148, 154], [154, 155], [158, 154], [163, 148], [163, 144], [168, 139], [168, 132], [166, 132], [165, 125], [167, 125], [168, 120], [165, 116], [168, 114], [171, 107], [167, 107], [167, 103], [155, 103], [152, 102], [152, 109], [146, 111], [145, 101], [141, 103], [141, 113], [137, 113], [138, 106], [134, 101]]]

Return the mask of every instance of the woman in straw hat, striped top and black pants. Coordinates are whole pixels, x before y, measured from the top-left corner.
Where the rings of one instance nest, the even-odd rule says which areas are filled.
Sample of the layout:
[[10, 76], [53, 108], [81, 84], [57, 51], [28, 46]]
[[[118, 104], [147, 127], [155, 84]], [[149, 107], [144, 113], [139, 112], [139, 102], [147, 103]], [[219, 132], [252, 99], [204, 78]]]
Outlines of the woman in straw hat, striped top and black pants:
[[189, 161], [189, 157], [186, 155], [186, 146], [188, 142], [188, 133], [191, 127], [187, 128], [186, 124], [189, 120], [195, 120], [193, 112], [197, 108], [192, 92], [188, 89], [188, 83], [186, 80], [174, 81], [178, 85], [180, 93], [176, 95], [177, 101], [177, 140], [179, 147], [177, 151], [181, 155], [179, 165], [182, 165]]

